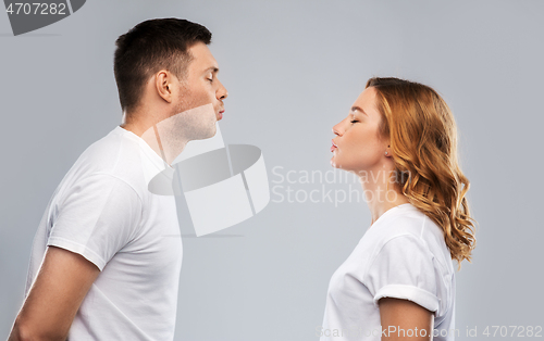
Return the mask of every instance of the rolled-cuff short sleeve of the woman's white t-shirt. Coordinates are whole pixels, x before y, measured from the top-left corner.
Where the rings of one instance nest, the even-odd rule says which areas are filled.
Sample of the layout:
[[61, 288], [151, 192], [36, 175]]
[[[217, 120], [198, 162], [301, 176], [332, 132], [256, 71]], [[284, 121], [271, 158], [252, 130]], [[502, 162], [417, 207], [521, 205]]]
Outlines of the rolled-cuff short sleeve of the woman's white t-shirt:
[[380, 299], [394, 298], [431, 312], [438, 310], [433, 255], [416, 236], [397, 236], [385, 242], [370, 263], [364, 285], [376, 307]]

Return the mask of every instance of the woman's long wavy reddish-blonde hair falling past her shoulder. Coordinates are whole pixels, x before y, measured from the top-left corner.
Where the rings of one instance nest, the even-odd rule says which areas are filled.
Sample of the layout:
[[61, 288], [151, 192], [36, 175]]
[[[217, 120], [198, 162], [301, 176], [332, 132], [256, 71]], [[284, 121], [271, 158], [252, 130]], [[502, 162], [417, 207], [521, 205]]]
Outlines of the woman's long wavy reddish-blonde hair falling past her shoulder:
[[398, 78], [373, 77], [382, 115], [380, 135], [390, 137], [396, 182], [409, 202], [444, 230], [452, 258], [471, 262], [474, 223], [470, 182], [457, 159], [457, 126], [446, 102], [432, 88]]

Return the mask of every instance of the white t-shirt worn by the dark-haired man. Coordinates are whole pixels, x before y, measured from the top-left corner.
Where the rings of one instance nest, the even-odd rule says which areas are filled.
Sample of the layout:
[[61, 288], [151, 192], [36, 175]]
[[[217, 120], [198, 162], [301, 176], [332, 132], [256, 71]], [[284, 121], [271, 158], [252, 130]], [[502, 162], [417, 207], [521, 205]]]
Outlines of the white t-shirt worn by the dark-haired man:
[[182, 238], [175, 198], [148, 190], [173, 168], [137, 135], [116, 126], [75, 162], [34, 239], [26, 294], [46, 248], [83, 255], [101, 273], [69, 340], [172, 340]]

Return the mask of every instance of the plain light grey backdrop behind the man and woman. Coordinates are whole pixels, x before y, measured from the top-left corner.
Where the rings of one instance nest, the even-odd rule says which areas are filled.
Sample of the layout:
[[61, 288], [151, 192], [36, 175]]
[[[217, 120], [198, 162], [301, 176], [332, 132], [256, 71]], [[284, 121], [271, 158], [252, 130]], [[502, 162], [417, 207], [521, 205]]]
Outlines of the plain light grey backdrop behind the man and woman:
[[[459, 126], [479, 222], [473, 263], [457, 274], [458, 340], [471, 339], [462, 337], [467, 327], [481, 334], [491, 325], [543, 326], [543, 13], [542, 1], [528, 0], [89, 0], [21, 37], [0, 14], [0, 339], [22, 304], [50, 195], [77, 156], [120, 123], [115, 38], [164, 16], [213, 33], [230, 91], [223, 137], [261, 148], [271, 187], [276, 166], [331, 169], [331, 128], [369, 77], [437, 89]], [[329, 279], [369, 224], [364, 202], [271, 202], [223, 231], [234, 237], [185, 239], [176, 340], [316, 340]]]

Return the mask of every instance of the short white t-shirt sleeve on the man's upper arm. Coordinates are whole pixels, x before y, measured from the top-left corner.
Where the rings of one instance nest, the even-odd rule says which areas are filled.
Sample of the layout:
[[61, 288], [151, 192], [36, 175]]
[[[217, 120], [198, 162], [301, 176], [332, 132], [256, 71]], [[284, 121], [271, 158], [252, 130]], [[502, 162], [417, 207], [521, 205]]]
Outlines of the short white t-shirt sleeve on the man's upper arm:
[[102, 270], [134, 238], [140, 198], [128, 184], [108, 174], [87, 176], [63, 197], [47, 245], [78, 253]]

